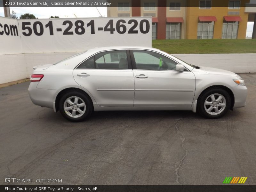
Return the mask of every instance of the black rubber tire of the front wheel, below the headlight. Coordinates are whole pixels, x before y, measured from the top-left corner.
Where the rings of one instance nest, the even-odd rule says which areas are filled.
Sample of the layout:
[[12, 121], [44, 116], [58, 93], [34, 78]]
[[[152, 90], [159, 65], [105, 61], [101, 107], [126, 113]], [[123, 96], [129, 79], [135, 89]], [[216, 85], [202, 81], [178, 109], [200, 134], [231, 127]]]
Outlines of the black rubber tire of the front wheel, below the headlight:
[[[211, 108], [212, 108], [212, 110], [209, 111], [209, 113], [212, 113], [212, 114], [209, 114], [205, 109], [204, 102], [212, 94], [216, 94], [215, 96], [213, 96], [215, 99], [218, 98], [217, 94], [219, 94], [219, 96], [221, 95], [222, 97], [224, 97], [225, 100], [223, 99], [223, 100], [221, 100], [221, 102], [226, 101], [226, 106], [225, 106], [225, 108], [221, 108], [221, 106], [219, 107], [218, 106], [219, 105], [218, 101], [213, 102], [213, 104], [211, 104], [211, 105], [206, 105], [206, 109], [211, 110]], [[208, 98], [207, 101], [212, 102], [212, 98]], [[222, 88], [210, 88], [210, 89], [205, 90], [199, 96], [198, 103], [197, 103], [197, 111], [199, 112], [199, 114], [201, 116], [203, 116], [205, 118], [216, 119], [216, 118], [220, 118], [220, 117], [224, 116], [228, 112], [228, 110], [230, 109], [230, 106], [231, 106], [231, 98], [230, 98], [230, 95], [228, 94], [228, 92], [226, 90], [224, 90]], [[216, 110], [220, 109], [219, 114], [218, 113], [216, 114], [215, 108], [217, 108]], [[215, 113], [215, 115], [214, 115], [214, 113]]]

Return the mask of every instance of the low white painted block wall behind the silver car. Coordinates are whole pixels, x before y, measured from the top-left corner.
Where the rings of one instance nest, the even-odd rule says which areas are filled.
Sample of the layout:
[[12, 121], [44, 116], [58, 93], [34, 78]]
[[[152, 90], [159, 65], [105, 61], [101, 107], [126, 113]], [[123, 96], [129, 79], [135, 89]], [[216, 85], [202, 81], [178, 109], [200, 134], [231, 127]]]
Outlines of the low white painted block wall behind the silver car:
[[[0, 55], [0, 84], [28, 78], [33, 66], [56, 63], [77, 52]], [[256, 54], [175, 54], [193, 65], [256, 73]]]

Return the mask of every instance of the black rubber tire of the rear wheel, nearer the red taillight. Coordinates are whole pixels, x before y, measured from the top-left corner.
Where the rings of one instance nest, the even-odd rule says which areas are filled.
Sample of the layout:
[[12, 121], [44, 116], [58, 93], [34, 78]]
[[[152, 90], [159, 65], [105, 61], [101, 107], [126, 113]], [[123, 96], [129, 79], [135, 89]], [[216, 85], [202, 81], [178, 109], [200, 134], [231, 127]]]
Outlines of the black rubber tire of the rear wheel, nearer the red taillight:
[[[65, 110], [64, 110], [64, 102], [70, 98], [70, 97], [78, 97], [80, 98], [79, 101], [77, 102], [79, 104], [79, 102], [83, 103], [82, 101], [84, 101], [85, 103], [85, 109], [83, 107], [80, 107], [80, 109], [82, 110], [85, 110], [84, 111], [84, 114], [79, 116], [79, 117], [71, 117], [71, 113], [73, 112], [72, 109], [68, 110], [68, 113], [70, 115], [68, 115]], [[73, 99], [71, 99], [73, 100]], [[73, 100], [74, 101], [74, 100]], [[72, 101], [72, 102], [73, 102]], [[80, 104], [81, 104], [80, 103]], [[75, 104], [74, 104], [75, 106]], [[71, 107], [71, 105], [69, 106]], [[77, 105], [76, 105], [77, 107]], [[81, 122], [81, 121], [84, 121], [85, 119], [87, 119], [91, 114], [92, 114], [92, 111], [93, 111], [93, 105], [92, 105], [92, 100], [89, 98], [89, 96], [87, 96], [86, 94], [84, 94], [83, 92], [79, 92], [79, 91], [71, 91], [71, 92], [67, 92], [65, 94], [63, 94], [60, 98], [60, 102], [59, 102], [59, 109], [60, 109], [60, 113], [61, 115], [68, 119], [69, 121], [71, 122]], [[74, 108], [75, 109], [75, 108]], [[76, 109], [79, 110], [79, 107], [77, 107]], [[75, 111], [74, 111], [75, 112]], [[78, 115], [78, 111], [76, 112], [76, 114]], [[82, 114], [82, 113], [81, 113]]]

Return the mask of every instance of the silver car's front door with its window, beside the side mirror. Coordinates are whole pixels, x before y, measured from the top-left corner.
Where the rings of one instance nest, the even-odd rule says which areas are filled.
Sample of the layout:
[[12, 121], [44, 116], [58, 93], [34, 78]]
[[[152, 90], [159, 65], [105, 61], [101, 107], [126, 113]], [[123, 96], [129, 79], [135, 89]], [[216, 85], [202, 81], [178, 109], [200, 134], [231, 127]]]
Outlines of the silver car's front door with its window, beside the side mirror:
[[176, 71], [178, 62], [155, 51], [130, 50], [135, 81], [134, 106], [189, 107], [195, 95], [194, 74]]

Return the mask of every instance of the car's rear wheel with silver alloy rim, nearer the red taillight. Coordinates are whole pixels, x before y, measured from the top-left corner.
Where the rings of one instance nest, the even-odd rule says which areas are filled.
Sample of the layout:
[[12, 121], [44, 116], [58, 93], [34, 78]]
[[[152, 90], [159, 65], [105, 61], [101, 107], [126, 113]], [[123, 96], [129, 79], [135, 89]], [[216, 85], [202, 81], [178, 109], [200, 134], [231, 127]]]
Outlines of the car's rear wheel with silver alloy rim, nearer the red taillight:
[[60, 113], [72, 122], [80, 122], [92, 114], [92, 101], [82, 92], [67, 92], [60, 98]]

